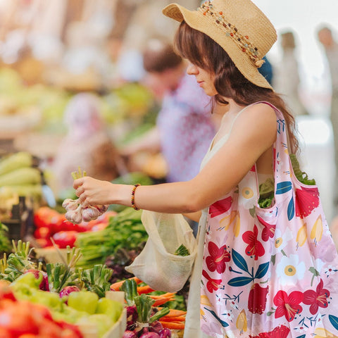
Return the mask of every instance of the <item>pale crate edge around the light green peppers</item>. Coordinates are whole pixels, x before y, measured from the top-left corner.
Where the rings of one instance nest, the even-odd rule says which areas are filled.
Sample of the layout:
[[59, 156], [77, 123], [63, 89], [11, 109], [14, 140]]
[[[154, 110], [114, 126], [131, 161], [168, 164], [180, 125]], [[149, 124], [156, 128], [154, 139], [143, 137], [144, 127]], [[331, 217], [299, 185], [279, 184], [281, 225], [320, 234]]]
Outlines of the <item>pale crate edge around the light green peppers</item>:
[[[114, 301], [120, 301], [125, 305], [125, 293], [121, 291], [108, 291], [106, 292], [106, 298], [113, 299]], [[92, 323], [81, 324], [80, 330], [84, 338], [99, 338], [96, 325]], [[106, 332], [102, 338], [122, 338], [127, 327], [127, 309], [123, 308], [118, 321], [111, 327], [111, 330]]]

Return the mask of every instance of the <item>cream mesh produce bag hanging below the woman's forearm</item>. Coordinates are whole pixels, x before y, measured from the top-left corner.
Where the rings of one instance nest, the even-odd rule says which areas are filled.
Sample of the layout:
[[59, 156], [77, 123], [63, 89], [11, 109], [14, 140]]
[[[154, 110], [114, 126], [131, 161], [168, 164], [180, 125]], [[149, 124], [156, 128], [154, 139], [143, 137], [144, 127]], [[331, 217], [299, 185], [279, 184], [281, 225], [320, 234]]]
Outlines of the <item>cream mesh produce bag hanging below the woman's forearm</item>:
[[[181, 214], [154, 211], [143, 211], [142, 223], [149, 239], [125, 270], [157, 291], [179, 291], [192, 273], [196, 256], [197, 242], [192, 228]], [[188, 249], [188, 256], [175, 254], [182, 244]]]

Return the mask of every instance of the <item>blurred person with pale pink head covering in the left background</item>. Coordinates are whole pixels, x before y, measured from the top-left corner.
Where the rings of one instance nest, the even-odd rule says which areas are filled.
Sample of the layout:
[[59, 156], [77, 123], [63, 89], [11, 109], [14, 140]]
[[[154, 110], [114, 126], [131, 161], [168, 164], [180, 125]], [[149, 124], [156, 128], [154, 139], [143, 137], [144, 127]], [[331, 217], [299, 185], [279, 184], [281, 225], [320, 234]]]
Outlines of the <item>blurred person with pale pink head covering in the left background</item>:
[[78, 167], [101, 180], [118, 176], [118, 151], [113, 146], [100, 115], [99, 98], [94, 94], [76, 94], [64, 113], [68, 134], [58, 147], [53, 171], [57, 188], [73, 185], [71, 173]]

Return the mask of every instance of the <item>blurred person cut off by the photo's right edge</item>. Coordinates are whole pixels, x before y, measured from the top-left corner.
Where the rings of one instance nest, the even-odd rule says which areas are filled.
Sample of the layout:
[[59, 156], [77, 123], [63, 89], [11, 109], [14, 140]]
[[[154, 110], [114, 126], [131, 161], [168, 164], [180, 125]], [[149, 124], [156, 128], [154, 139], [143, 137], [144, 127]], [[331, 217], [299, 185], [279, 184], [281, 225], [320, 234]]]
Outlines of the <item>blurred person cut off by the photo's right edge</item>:
[[[334, 40], [332, 30], [323, 26], [318, 29], [318, 40], [323, 45], [330, 69], [332, 99], [330, 119], [334, 138], [334, 158], [336, 178], [334, 183], [334, 206], [338, 206], [338, 43]], [[337, 211], [336, 211], [337, 213]]]

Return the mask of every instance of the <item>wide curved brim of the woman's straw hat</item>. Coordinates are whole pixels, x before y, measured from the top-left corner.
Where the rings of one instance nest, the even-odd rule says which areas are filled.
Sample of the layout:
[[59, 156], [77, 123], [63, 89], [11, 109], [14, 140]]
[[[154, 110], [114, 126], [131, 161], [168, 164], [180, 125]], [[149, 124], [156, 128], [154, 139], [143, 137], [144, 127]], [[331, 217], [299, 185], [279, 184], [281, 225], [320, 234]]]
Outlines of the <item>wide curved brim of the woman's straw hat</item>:
[[179, 4], [170, 4], [163, 8], [163, 14], [180, 23], [184, 20], [190, 27], [211, 37], [211, 39], [223, 47], [247, 80], [256, 84], [258, 87], [273, 89], [265, 77], [259, 72], [256, 65], [251, 61], [248, 62], [248, 56], [239, 49], [239, 46], [234, 43], [232, 37], [220, 34], [220, 28], [217, 24], [211, 23], [201, 11], [189, 11]]

